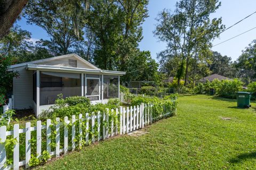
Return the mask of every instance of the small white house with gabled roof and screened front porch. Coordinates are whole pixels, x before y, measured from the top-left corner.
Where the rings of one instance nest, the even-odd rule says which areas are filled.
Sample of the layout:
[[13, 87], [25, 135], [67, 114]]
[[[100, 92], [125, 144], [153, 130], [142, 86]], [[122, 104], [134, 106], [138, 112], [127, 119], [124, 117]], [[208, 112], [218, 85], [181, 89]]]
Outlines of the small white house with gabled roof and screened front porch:
[[120, 76], [125, 72], [101, 70], [76, 54], [11, 65], [14, 109], [33, 108], [36, 116], [63, 97], [86, 96], [91, 103], [119, 98]]

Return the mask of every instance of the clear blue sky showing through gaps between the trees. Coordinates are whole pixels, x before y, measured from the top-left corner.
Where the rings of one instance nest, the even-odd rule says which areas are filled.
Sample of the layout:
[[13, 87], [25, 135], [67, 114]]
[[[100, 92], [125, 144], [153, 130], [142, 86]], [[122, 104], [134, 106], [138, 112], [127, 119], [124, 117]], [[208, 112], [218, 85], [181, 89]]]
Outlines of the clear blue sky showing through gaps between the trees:
[[[153, 34], [155, 29], [157, 14], [164, 8], [174, 10], [175, 3], [174, 0], [149, 0], [148, 11], [149, 18], [143, 23], [143, 39], [139, 44], [141, 50], [149, 50], [151, 56], [156, 59], [157, 53], [164, 50], [166, 44], [158, 41]], [[222, 17], [222, 23], [229, 27], [235, 22], [243, 19], [245, 16], [256, 11], [256, 1], [255, 0], [222, 0], [221, 7], [211, 15], [211, 18]], [[244, 31], [247, 31], [253, 27], [256, 27], [256, 14], [250, 16], [241, 23], [235, 25], [235, 27], [221, 33], [220, 37], [213, 41], [213, 45], [221, 43], [231, 37], [238, 35]], [[28, 30], [32, 33], [32, 40], [38, 39], [49, 39], [47, 33], [40, 27], [36, 25], [27, 25], [26, 19], [22, 18], [17, 21], [17, 24], [21, 26], [22, 29]], [[227, 55], [235, 61], [239, 55], [241, 55], [242, 50], [251, 43], [253, 39], [256, 39], [256, 29], [245, 33], [233, 40], [227, 41], [221, 45], [215, 46], [212, 50], [215, 50], [222, 55]]]

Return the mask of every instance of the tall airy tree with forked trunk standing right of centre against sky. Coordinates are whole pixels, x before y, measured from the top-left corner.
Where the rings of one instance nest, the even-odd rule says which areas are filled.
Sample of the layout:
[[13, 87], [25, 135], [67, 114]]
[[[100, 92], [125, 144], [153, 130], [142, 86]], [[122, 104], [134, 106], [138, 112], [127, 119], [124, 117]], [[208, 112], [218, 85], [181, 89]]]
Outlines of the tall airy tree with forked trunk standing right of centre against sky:
[[165, 41], [171, 54], [181, 60], [178, 84], [184, 72], [185, 85], [188, 83], [191, 58], [205, 47], [210, 48], [211, 41], [223, 29], [221, 19], [210, 20], [210, 14], [219, 6], [218, 0], [181, 0], [174, 12], [164, 10], [158, 15], [155, 36]]

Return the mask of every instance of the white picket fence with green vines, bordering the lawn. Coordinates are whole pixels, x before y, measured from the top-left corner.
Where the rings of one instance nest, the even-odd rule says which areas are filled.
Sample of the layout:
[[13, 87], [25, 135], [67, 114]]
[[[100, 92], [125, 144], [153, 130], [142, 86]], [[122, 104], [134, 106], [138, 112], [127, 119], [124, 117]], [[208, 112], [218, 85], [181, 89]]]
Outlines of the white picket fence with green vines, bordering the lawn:
[[[165, 107], [165, 106], [163, 106]], [[151, 124], [154, 120], [158, 120], [159, 118], [168, 116], [172, 114], [172, 111], [167, 107], [163, 109], [163, 113], [161, 115], [157, 115], [157, 117], [153, 116], [152, 104], [141, 104], [139, 106], [131, 106], [131, 107], [119, 107], [116, 109], [107, 109], [105, 113], [92, 113], [89, 116], [88, 113], [85, 115], [79, 114], [78, 117], [73, 115], [71, 120], [66, 116], [63, 122], [60, 122], [60, 118], [56, 118], [55, 121], [51, 121], [50, 119], [46, 120], [46, 125], [42, 125], [41, 121], [37, 121], [36, 126], [31, 127], [30, 122], [26, 123], [25, 129], [20, 129], [19, 124], [14, 124], [12, 131], [6, 131], [6, 126], [2, 126], [0, 128], [0, 169], [19, 169], [20, 166], [25, 165], [26, 168], [29, 167], [29, 160], [31, 158], [31, 132], [36, 131], [36, 154], [39, 158], [42, 155], [42, 140], [46, 140], [46, 150], [50, 153], [51, 156], [59, 157], [60, 154], [67, 154], [69, 150], [74, 150], [79, 146], [82, 146], [82, 141], [85, 141], [85, 145], [89, 145], [89, 141], [94, 143], [95, 141], [106, 140], [110, 137], [114, 137], [118, 133], [120, 135], [127, 134], [129, 132], [138, 130], [140, 128], [144, 128], [146, 125]], [[116, 115], [118, 118], [117, 122], [114, 123], [114, 118], [109, 119], [109, 115]], [[103, 116], [103, 117], [102, 117]], [[102, 119], [101, 119], [102, 117]], [[102, 122], [101, 122], [102, 120]], [[78, 121], [78, 125], [76, 122]], [[83, 128], [83, 122], [85, 121], [85, 128]], [[52, 123], [55, 122], [55, 123]], [[56, 123], [57, 122], [57, 123]], [[71, 123], [71, 129], [69, 129], [68, 124]], [[89, 124], [90, 123], [90, 124]], [[102, 124], [101, 124], [102, 123]], [[95, 134], [95, 125], [98, 125]], [[102, 125], [102, 129], [101, 129]], [[78, 126], [78, 127], [76, 127]], [[89, 126], [91, 128], [91, 133], [89, 132]], [[51, 127], [55, 128], [55, 132], [53, 133]], [[63, 148], [60, 148], [60, 128], [63, 128]], [[46, 135], [43, 136], [42, 130], [45, 129]], [[68, 137], [68, 133], [71, 131], [71, 139]], [[85, 137], [83, 137], [83, 132], [85, 132]], [[20, 160], [20, 134], [26, 134], [26, 159]], [[89, 134], [90, 133], [90, 134]], [[51, 147], [51, 135], [55, 135], [55, 147]], [[5, 149], [5, 141], [6, 137], [11, 136], [11, 138], [17, 139], [17, 143], [15, 143], [13, 147], [13, 164], [6, 166], [6, 149]], [[79, 140], [75, 140], [76, 137]], [[9, 137], [10, 138], [10, 137]], [[85, 138], [85, 139], [84, 139]], [[90, 138], [90, 139], [89, 139]], [[71, 140], [71, 145], [68, 142]], [[77, 142], [75, 142], [77, 141]], [[45, 142], [45, 141], [44, 141]]]

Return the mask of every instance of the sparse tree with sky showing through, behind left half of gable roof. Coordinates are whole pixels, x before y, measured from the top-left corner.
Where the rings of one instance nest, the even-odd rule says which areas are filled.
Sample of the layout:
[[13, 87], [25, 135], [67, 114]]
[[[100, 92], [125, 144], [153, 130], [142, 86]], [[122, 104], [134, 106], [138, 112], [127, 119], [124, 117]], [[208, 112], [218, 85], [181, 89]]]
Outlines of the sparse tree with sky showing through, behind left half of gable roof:
[[50, 36], [49, 47], [57, 49], [56, 55], [68, 54], [77, 36], [73, 27], [73, 1], [36, 0], [29, 1], [25, 17], [29, 24], [43, 28]]

